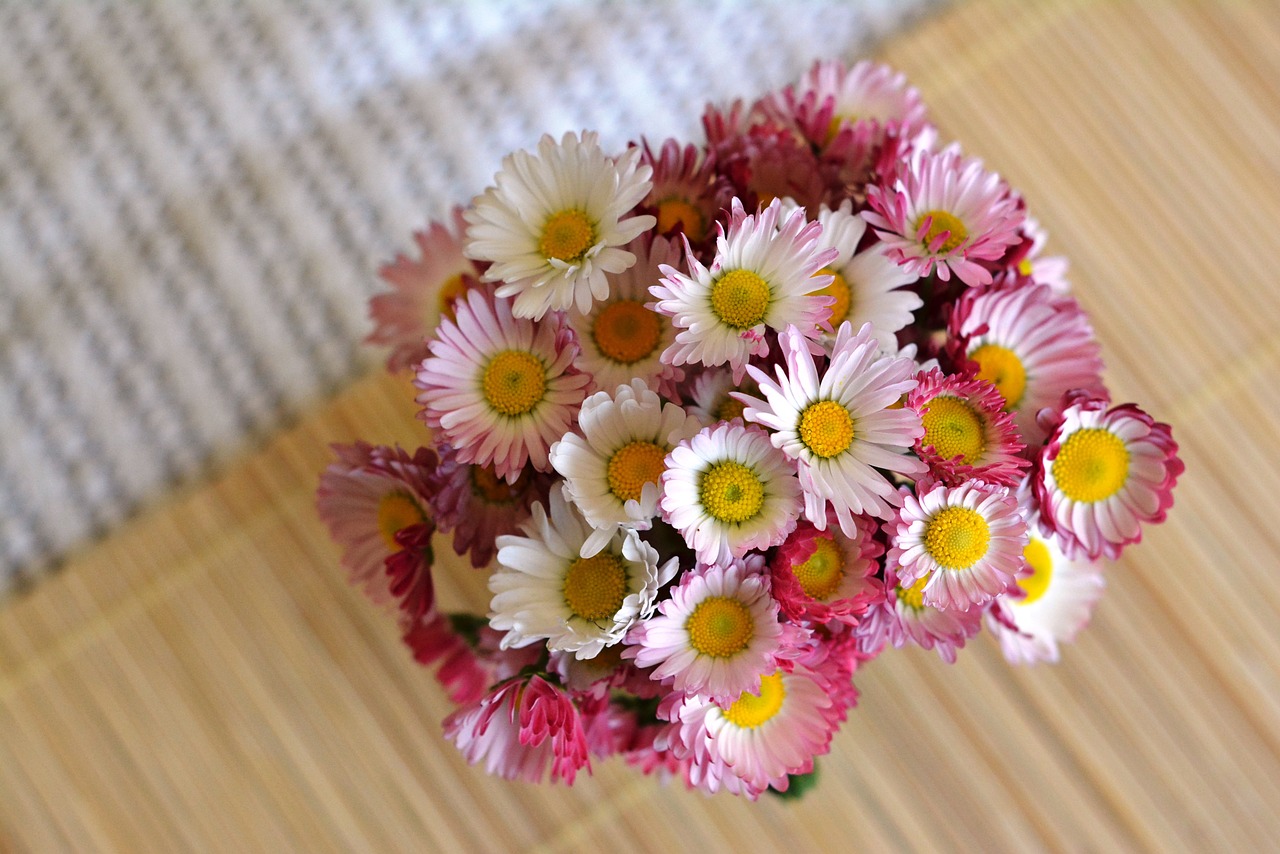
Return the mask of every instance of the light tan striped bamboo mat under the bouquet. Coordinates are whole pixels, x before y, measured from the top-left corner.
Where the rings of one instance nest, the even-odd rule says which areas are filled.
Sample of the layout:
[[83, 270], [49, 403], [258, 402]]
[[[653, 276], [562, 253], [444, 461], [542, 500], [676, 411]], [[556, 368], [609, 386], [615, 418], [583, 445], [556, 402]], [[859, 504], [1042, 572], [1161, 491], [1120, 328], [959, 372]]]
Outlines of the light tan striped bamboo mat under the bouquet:
[[1060, 666], [883, 656], [796, 804], [492, 781], [314, 515], [329, 442], [416, 440], [370, 378], [9, 604], [0, 848], [1280, 849], [1280, 8], [972, 0], [883, 55], [1025, 191], [1184, 449]]

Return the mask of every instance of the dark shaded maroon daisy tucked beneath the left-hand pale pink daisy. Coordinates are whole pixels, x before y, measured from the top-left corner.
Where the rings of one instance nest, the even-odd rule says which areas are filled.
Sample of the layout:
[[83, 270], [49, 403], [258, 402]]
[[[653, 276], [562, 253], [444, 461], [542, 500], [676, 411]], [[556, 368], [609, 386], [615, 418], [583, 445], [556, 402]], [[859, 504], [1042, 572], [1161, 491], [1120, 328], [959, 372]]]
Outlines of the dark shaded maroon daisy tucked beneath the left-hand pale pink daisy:
[[430, 497], [435, 524], [440, 531], [453, 531], [453, 551], [471, 556], [471, 566], [493, 563], [498, 547], [494, 540], [515, 534], [529, 519], [535, 501], [545, 503], [550, 478], [525, 466], [515, 480], [504, 480], [493, 466], [458, 461], [453, 446], [440, 446], [436, 470], [439, 487]]

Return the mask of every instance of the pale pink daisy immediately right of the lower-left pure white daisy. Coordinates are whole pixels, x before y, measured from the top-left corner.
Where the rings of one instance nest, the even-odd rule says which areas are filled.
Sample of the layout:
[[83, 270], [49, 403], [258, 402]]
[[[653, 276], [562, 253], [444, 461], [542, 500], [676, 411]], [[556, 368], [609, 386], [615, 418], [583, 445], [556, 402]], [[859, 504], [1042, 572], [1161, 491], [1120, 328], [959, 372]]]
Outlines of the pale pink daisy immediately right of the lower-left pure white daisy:
[[731, 703], [777, 667], [783, 631], [760, 560], [686, 571], [660, 613], [639, 624], [622, 657], [672, 690]]

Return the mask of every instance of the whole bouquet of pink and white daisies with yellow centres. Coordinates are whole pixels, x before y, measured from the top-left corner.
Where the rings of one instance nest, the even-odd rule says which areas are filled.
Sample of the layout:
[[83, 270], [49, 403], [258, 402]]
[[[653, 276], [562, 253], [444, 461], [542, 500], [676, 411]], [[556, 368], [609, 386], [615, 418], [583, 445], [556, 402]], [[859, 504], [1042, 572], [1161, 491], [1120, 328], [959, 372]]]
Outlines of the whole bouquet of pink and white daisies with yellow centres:
[[[1183, 471], [901, 74], [818, 63], [703, 124], [509, 155], [370, 305], [426, 447], [337, 447], [320, 515], [503, 777], [786, 790], [888, 647], [1056, 659]], [[486, 615], [435, 600], [451, 548]]]

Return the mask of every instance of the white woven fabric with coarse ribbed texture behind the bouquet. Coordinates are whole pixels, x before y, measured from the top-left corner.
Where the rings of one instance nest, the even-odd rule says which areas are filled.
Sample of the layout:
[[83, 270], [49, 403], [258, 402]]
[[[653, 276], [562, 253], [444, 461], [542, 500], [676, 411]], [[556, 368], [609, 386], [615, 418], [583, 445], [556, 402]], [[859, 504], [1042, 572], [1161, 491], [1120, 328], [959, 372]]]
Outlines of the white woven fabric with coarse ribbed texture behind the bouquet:
[[0, 589], [378, 360], [506, 152], [700, 140], [937, 1], [0, 4]]

